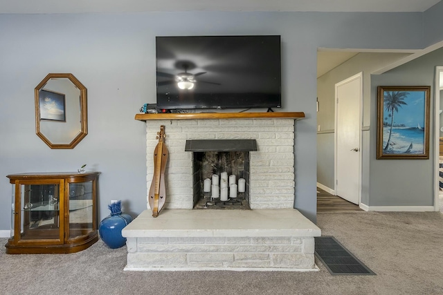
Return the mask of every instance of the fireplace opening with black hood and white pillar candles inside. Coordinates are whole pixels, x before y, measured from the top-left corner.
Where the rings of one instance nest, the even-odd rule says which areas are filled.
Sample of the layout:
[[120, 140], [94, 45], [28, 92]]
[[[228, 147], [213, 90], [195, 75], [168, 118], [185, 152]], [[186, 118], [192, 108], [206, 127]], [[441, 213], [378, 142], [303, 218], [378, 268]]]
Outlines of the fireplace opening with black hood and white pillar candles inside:
[[249, 151], [255, 140], [187, 140], [194, 209], [250, 209]]

